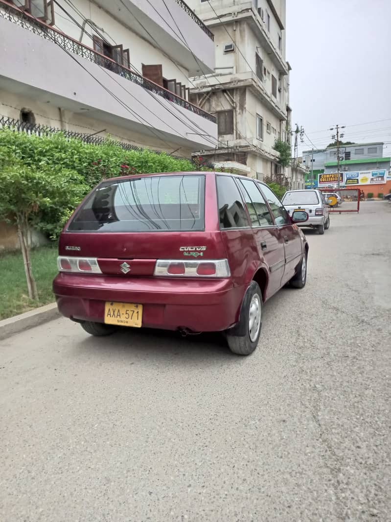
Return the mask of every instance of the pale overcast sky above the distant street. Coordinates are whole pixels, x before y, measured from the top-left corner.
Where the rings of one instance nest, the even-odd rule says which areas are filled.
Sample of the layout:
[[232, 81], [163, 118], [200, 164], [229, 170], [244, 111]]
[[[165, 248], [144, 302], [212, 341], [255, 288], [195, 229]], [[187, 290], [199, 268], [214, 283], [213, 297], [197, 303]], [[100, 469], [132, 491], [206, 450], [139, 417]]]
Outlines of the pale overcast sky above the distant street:
[[299, 155], [331, 143], [336, 124], [346, 126], [343, 141], [391, 142], [391, 0], [286, 5], [292, 124], [306, 132]]

